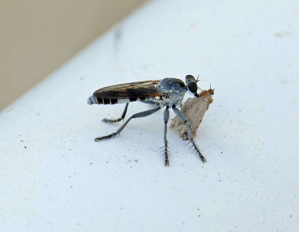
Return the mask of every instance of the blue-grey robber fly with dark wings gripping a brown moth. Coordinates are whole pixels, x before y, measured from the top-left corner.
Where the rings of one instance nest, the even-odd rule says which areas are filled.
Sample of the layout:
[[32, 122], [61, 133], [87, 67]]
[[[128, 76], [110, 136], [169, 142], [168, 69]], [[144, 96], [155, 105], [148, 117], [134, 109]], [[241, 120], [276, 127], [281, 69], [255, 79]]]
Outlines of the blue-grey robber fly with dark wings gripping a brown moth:
[[184, 99], [184, 95], [189, 90], [194, 96], [199, 97], [197, 94], [197, 79], [192, 75], [187, 75], [185, 77], [186, 84], [184, 81], [177, 78], [164, 78], [162, 80], [151, 80], [151, 81], [137, 81], [119, 85], [107, 86], [101, 89], [96, 90], [93, 95], [91, 95], [87, 99], [88, 104], [116, 104], [116, 103], [126, 103], [125, 109], [122, 115], [117, 119], [108, 119], [104, 118], [102, 121], [106, 123], [115, 123], [124, 119], [129, 102], [132, 101], [141, 101], [147, 104], [151, 104], [154, 106], [152, 109], [148, 109], [143, 112], [139, 112], [133, 114], [129, 117], [122, 126], [112, 134], [108, 134], [105, 136], [97, 137], [94, 141], [99, 140], [107, 140], [110, 138], [119, 135], [120, 132], [125, 128], [125, 126], [129, 123], [132, 118], [137, 117], [146, 117], [151, 115], [158, 110], [162, 109], [164, 106], [164, 161], [165, 166], [169, 166], [169, 151], [168, 151], [168, 141], [166, 138], [167, 133], [167, 122], [169, 120], [169, 108], [173, 109], [173, 112], [184, 122], [187, 129], [187, 134], [190, 139], [190, 142], [199, 155], [200, 159], [203, 163], [206, 162], [205, 157], [203, 157], [202, 153], [199, 150], [199, 147], [193, 140], [192, 133], [190, 131], [189, 124], [185, 118], [185, 116], [180, 112], [180, 110], [176, 107], [181, 104], [181, 101]]

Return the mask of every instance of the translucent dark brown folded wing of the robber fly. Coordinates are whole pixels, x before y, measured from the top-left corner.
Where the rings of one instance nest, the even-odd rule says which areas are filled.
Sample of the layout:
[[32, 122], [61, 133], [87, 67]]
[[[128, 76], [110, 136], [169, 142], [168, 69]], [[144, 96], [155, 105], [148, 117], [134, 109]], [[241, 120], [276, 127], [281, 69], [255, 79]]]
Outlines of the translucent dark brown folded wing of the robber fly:
[[155, 96], [163, 96], [158, 92], [155, 85], [159, 80], [137, 81], [124, 83], [119, 85], [111, 85], [96, 90], [93, 95], [97, 98], [124, 99], [124, 98], [147, 98]]

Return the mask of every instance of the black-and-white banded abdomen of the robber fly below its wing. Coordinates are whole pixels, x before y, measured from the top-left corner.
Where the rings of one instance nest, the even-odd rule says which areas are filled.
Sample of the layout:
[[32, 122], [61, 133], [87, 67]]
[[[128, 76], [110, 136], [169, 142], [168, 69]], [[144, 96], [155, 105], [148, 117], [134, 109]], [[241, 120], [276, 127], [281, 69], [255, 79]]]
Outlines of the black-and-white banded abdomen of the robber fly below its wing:
[[132, 101], [153, 101], [155, 100], [155, 97], [148, 97], [148, 98], [122, 98], [122, 99], [118, 99], [118, 98], [98, 98], [95, 97], [94, 95], [91, 95], [88, 99], [87, 99], [87, 103], [89, 105], [92, 104], [118, 104], [118, 103], [128, 103], [128, 102], [132, 102]]

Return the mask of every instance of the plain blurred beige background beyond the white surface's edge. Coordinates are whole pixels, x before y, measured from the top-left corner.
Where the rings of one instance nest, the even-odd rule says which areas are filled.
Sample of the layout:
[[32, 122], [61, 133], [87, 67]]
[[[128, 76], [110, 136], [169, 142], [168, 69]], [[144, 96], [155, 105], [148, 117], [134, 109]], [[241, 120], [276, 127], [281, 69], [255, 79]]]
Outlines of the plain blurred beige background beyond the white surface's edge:
[[145, 0], [0, 2], [0, 110]]

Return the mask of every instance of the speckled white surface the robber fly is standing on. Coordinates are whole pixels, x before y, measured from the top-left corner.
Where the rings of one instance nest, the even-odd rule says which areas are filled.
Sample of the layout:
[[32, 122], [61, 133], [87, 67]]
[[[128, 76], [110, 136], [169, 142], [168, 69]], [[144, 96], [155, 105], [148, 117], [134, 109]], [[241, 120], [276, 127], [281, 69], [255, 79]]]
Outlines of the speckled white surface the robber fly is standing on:
[[[298, 1], [133, 13], [1, 112], [1, 230], [296, 231], [298, 21]], [[89, 106], [94, 90], [186, 74], [215, 88], [196, 137], [207, 163], [169, 129], [164, 167], [163, 110], [93, 141], [124, 107]]]

